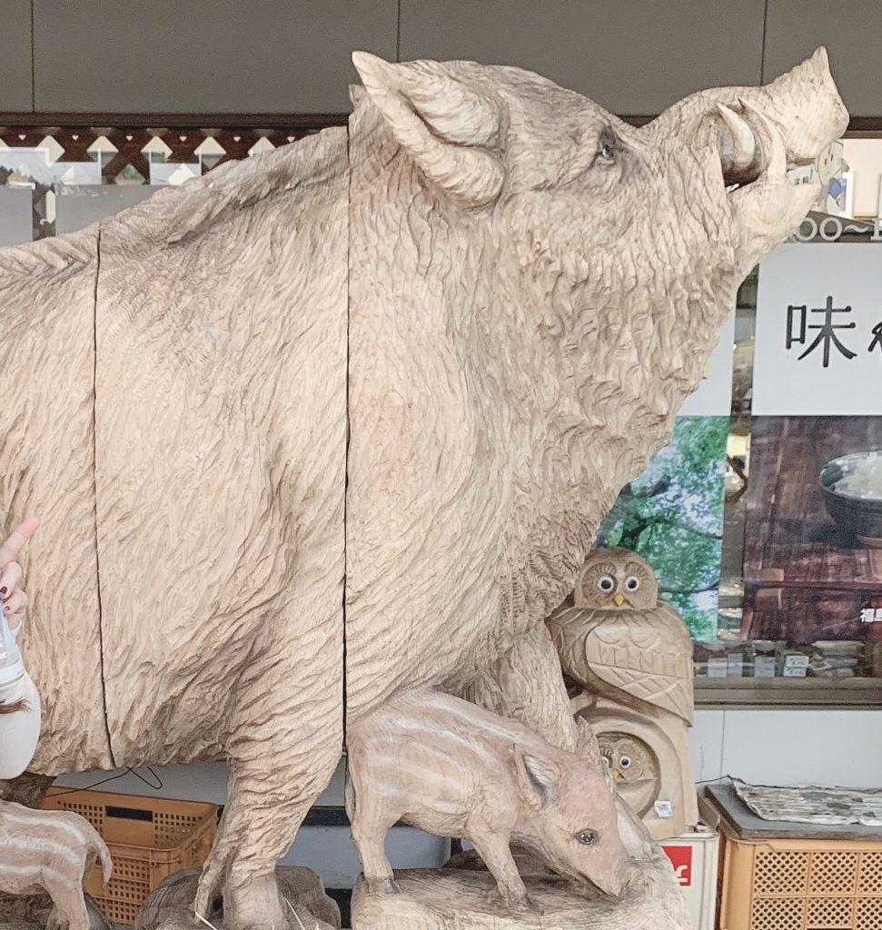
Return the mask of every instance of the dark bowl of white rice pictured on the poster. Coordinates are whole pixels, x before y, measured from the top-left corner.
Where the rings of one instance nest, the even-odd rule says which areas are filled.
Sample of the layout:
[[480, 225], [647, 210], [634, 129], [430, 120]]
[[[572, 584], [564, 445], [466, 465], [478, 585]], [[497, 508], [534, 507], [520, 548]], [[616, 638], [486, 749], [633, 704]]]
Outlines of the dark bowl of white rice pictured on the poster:
[[847, 484], [860, 485], [862, 474], [869, 472], [871, 463], [876, 474], [882, 470], [882, 451], [855, 452], [849, 456], [840, 456], [827, 462], [818, 476], [827, 512], [835, 524], [853, 534], [865, 546], [882, 549], [882, 479], [875, 477], [872, 487], [867, 485], [861, 493], [860, 488], [849, 486], [839, 489], [843, 479], [854, 479]]

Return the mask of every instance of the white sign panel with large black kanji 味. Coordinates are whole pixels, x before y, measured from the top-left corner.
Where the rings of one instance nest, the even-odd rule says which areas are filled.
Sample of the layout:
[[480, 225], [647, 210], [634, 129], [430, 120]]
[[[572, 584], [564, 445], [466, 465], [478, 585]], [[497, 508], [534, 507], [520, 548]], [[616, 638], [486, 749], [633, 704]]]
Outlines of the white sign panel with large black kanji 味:
[[882, 248], [785, 245], [763, 261], [753, 412], [882, 414]]

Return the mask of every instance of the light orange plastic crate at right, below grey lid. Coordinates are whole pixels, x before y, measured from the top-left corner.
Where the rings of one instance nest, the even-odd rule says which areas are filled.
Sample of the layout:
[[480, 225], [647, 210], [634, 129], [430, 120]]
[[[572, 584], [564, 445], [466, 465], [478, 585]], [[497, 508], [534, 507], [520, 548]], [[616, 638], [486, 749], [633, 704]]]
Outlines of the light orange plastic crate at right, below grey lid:
[[720, 930], [882, 930], [882, 842], [722, 832]]

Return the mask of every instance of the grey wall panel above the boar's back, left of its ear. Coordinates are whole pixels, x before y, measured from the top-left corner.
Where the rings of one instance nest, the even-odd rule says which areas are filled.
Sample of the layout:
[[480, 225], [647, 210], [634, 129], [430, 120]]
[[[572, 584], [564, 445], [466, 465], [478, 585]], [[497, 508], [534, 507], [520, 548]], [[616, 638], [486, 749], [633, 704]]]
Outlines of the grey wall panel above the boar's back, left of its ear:
[[395, 54], [397, 0], [34, 0], [36, 107], [348, 111], [353, 48]]

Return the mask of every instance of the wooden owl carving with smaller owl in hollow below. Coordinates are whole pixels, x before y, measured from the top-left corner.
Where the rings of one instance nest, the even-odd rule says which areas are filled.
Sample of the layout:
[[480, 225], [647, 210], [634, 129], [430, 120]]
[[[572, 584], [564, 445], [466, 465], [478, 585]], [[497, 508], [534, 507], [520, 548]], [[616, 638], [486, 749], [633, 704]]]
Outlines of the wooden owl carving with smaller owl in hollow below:
[[573, 606], [548, 625], [563, 671], [581, 687], [572, 710], [595, 729], [622, 798], [657, 840], [696, 823], [692, 642], [651, 567], [626, 549], [591, 552]]

